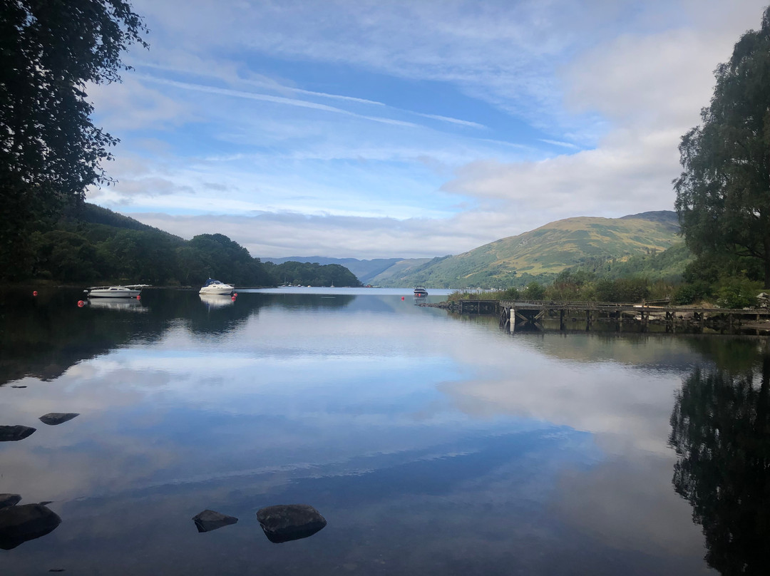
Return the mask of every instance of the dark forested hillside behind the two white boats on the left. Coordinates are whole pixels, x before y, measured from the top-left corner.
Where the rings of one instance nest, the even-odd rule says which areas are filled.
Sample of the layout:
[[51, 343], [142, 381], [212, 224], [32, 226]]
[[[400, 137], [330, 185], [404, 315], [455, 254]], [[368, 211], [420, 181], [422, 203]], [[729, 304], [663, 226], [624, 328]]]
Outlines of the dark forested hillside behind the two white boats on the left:
[[312, 286], [360, 284], [343, 266], [266, 265], [222, 234], [185, 240], [88, 203], [71, 209], [52, 229], [32, 233], [29, 243], [35, 261], [28, 279], [36, 280], [200, 286], [211, 277], [239, 286], [276, 286], [292, 276]]

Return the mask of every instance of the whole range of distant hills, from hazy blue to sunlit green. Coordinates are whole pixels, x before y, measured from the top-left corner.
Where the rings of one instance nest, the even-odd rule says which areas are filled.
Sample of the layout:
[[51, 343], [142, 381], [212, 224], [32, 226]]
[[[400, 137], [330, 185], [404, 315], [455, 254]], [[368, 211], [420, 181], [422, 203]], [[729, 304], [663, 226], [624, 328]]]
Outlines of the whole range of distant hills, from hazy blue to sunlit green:
[[548, 282], [567, 269], [611, 277], [644, 272], [673, 280], [681, 277], [691, 256], [679, 236], [676, 213], [661, 210], [622, 218], [581, 216], [557, 220], [454, 256], [375, 260], [290, 256], [262, 260], [276, 264], [291, 260], [336, 263], [362, 283], [373, 286], [425, 284], [464, 289]]

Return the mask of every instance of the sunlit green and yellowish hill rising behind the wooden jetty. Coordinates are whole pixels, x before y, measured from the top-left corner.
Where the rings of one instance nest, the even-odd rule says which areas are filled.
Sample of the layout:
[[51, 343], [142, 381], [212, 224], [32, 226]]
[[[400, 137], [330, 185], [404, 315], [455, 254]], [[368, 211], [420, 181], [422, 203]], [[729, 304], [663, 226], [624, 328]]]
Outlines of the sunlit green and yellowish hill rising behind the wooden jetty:
[[437, 288], [523, 285], [549, 280], [561, 270], [591, 261], [622, 262], [634, 255], [661, 252], [678, 242], [678, 229], [676, 214], [668, 211], [623, 218], [567, 218], [457, 256], [400, 269], [392, 266], [374, 281], [381, 286]]

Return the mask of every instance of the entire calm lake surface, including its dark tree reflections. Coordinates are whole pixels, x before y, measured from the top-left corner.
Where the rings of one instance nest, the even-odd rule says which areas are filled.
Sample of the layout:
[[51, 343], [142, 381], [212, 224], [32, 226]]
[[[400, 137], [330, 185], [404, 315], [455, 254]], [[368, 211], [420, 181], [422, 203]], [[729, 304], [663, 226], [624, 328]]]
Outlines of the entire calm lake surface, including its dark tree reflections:
[[[0, 295], [0, 425], [35, 428], [0, 493], [61, 523], [0, 528], [2, 574], [766, 568], [763, 338], [511, 334], [410, 290], [31, 290]], [[327, 524], [275, 544], [278, 504]]]

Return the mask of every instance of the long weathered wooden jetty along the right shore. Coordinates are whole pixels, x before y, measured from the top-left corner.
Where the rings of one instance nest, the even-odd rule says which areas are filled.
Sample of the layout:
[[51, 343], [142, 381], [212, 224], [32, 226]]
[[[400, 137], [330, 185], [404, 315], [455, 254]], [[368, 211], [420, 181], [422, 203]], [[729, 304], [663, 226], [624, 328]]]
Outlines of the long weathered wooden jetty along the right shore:
[[[719, 332], [738, 331], [768, 333], [770, 310], [696, 308], [671, 306], [668, 303], [609, 303], [609, 302], [541, 302], [531, 300], [459, 300], [450, 303], [450, 310], [461, 314], [494, 314], [500, 326], [507, 330], [545, 330], [546, 320], [558, 321], [559, 330], [574, 327], [585, 330], [603, 323], [615, 330], [647, 332], [652, 325], [666, 332], [702, 333], [705, 329]], [[659, 329], [658, 329], [659, 330]]]

